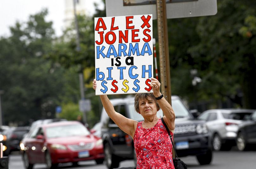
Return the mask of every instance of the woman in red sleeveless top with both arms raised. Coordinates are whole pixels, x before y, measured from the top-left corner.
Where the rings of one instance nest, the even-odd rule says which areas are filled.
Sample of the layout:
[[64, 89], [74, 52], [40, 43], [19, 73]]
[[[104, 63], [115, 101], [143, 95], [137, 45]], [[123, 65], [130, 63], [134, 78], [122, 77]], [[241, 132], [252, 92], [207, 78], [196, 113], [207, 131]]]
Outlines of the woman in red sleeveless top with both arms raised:
[[[118, 127], [133, 138], [137, 154], [137, 168], [174, 169], [172, 161], [172, 144], [167, 130], [157, 111], [163, 110], [164, 122], [173, 136], [175, 128], [175, 114], [171, 105], [160, 93], [160, 82], [151, 78], [152, 93], [135, 95], [134, 108], [141, 114], [144, 121], [138, 122], [124, 117], [114, 110], [107, 95], [100, 95], [101, 102], [108, 116]], [[93, 89], [96, 89], [96, 80], [93, 80]]]

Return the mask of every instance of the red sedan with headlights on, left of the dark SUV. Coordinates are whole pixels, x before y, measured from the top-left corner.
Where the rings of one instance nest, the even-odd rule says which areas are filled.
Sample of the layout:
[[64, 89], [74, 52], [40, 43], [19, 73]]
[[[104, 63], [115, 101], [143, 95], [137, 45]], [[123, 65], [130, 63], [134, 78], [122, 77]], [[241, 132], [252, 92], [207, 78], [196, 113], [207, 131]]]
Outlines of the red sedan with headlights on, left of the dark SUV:
[[95, 160], [104, 161], [102, 139], [93, 136], [77, 121], [41, 124], [31, 129], [20, 144], [25, 168], [35, 163], [46, 163], [49, 169], [59, 163]]

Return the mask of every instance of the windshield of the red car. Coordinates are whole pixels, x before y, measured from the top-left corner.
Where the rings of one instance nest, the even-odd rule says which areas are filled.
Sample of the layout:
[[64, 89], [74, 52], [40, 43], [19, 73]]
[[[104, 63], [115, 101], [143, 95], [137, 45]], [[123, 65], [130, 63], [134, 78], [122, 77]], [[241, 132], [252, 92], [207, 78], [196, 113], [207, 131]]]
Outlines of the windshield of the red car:
[[48, 138], [68, 137], [68, 136], [87, 136], [90, 132], [81, 124], [61, 125], [46, 128]]

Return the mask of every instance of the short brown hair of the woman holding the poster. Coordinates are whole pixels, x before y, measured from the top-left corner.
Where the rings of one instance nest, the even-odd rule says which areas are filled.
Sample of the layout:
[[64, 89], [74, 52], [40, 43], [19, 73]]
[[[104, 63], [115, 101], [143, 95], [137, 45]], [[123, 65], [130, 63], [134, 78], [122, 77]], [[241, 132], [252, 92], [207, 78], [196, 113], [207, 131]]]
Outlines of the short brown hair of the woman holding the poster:
[[160, 106], [155, 96], [153, 95], [153, 93], [138, 93], [138, 94], [135, 94], [135, 98], [134, 98], [134, 109], [137, 113], [139, 113], [139, 101], [141, 99], [152, 100], [157, 105], [157, 111], [160, 110]]

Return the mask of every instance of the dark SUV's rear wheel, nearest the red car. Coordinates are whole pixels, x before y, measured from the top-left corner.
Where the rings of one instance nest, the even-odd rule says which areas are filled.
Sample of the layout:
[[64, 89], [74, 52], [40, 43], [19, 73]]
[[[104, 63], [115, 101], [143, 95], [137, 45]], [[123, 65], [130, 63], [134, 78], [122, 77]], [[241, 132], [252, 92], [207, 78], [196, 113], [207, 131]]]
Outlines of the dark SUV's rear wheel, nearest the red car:
[[109, 169], [118, 168], [119, 167], [119, 160], [118, 158], [112, 154], [111, 148], [109, 144], [106, 144], [104, 146], [104, 154], [105, 154], [105, 160], [106, 160], [106, 166]]

